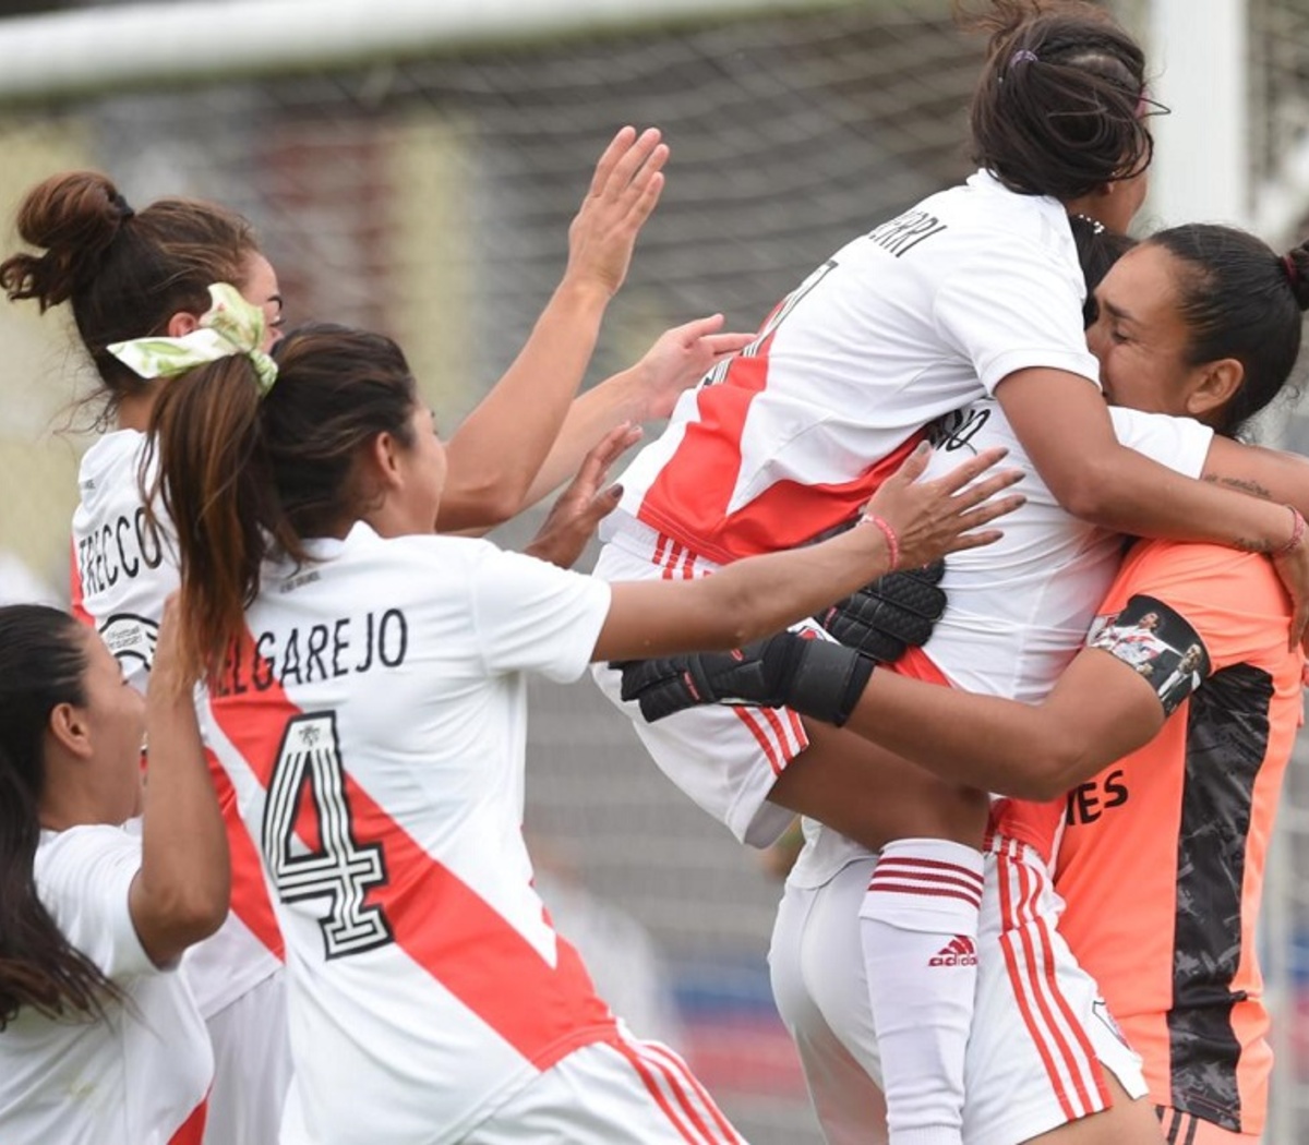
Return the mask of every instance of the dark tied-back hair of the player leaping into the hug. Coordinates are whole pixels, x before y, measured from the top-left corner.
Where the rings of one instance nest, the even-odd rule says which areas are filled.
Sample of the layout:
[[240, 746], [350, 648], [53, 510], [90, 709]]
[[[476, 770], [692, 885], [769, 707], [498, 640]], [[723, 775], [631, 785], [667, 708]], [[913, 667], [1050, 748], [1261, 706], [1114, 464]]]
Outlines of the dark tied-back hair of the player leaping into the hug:
[[1145, 58], [1080, 0], [991, 0], [957, 21], [990, 35], [970, 107], [973, 160], [1009, 190], [1071, 202], [1149, 166]]

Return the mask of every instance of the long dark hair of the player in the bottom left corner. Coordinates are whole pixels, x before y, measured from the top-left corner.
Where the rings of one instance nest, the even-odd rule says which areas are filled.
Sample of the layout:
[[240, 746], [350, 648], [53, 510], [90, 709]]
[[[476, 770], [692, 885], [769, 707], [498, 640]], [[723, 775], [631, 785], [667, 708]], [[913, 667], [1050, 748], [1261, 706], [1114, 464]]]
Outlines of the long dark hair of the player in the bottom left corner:
[[50, 713], [86, 703], [85, 629], [43, 605], [0, 608], [0, 1030], [24, 1008], [101, 1015], [113, 983], [73, 949], [33, 874]]

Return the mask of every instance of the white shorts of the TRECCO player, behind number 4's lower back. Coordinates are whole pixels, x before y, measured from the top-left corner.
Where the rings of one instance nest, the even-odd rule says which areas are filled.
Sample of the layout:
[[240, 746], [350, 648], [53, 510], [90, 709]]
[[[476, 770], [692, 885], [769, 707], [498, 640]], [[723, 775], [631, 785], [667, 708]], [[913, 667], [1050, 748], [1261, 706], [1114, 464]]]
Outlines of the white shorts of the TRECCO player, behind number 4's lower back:
[[276, 1141], [291, 1085], [285, 971], [266, 978], [206, 1025], [213, 1044], [206, 1145]]

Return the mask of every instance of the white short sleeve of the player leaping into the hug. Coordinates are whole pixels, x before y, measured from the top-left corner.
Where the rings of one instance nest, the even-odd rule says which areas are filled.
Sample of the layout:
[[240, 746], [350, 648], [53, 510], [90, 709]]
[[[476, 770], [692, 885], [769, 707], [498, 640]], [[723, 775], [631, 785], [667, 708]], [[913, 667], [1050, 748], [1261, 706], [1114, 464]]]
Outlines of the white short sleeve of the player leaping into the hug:
[[946, 345], [963, 355], [988, 394], [1021, 369], [1066, 370], [1098, 383], [1086, 349], [1081, 293], [1068, 267], [1034, 242], [1014, 239], [966, 258], [937, 291], [933, 318]]

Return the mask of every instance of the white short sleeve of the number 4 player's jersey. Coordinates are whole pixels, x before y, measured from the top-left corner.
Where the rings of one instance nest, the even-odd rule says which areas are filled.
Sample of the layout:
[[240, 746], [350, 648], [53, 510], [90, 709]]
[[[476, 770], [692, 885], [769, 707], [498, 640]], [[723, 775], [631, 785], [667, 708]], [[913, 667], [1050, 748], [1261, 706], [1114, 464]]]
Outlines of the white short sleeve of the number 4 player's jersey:
[[577, 679], [590, 663], [609, 602], [609, 585], [597, 577], [490, 544], [473, 565], [474, 624], [492, 673]]

